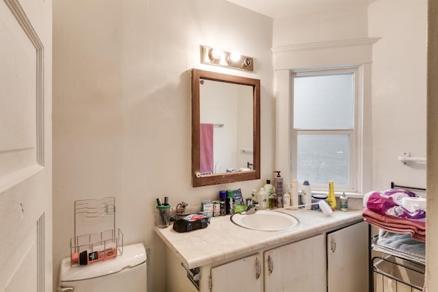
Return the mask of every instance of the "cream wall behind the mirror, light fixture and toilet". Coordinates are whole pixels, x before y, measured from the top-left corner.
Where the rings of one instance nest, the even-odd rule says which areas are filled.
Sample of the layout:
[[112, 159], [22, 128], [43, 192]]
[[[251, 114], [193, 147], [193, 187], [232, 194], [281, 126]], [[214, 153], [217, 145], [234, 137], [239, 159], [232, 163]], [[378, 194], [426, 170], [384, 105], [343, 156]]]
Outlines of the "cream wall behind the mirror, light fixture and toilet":
[[[116, 197], [125, 244], [149, 252], [149, 291], [165, 291], [155, 198], [175, 206], [272, 177], [272, 20], [222, 0], [53, 3], [53, 269], [68, 256], [73, 203]], [[200, 64], [199, 45], [255, 57], [255, 72]], [[191, 186], [190, 68], [261, 79], [261, 177]]]

